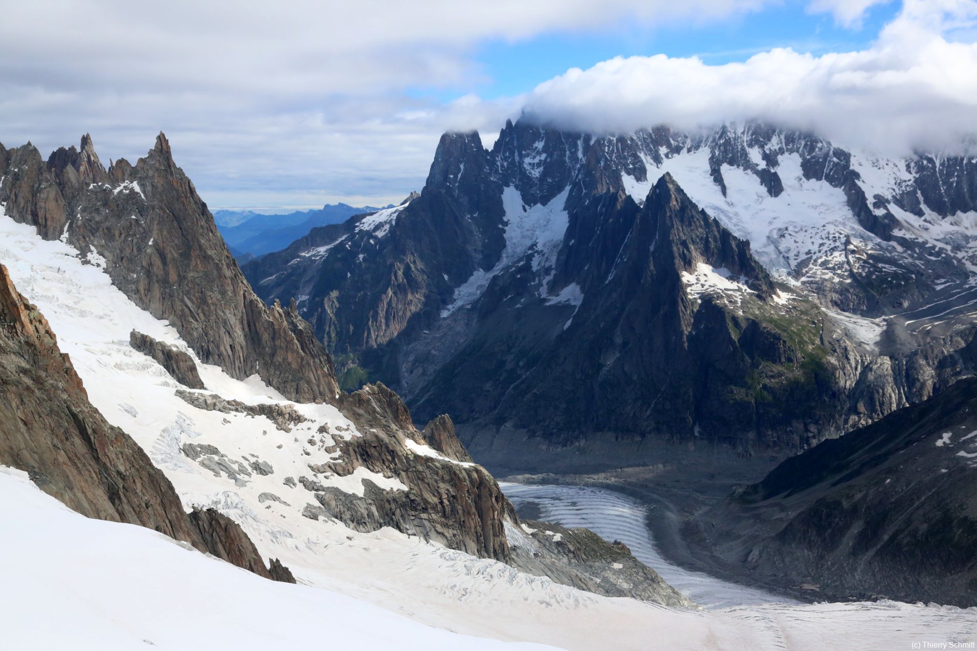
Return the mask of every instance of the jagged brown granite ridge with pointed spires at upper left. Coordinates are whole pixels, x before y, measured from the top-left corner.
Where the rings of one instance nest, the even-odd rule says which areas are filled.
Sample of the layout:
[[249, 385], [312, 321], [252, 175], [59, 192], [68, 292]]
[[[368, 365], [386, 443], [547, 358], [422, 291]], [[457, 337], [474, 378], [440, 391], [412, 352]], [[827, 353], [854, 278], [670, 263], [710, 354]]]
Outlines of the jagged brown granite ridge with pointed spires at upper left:
[[88, 136], [81, 151], [61, 148], [47, 162], [29, 143], [2, 162], [8, 217], [105, 265], [203, 362], [238, 379], [260, 373], [292, 399], [335, 399], [330, 358], [294, 311], [264, 305], [248, 287], [165, 136], [135, 166], [119, 159], [106, 170]]

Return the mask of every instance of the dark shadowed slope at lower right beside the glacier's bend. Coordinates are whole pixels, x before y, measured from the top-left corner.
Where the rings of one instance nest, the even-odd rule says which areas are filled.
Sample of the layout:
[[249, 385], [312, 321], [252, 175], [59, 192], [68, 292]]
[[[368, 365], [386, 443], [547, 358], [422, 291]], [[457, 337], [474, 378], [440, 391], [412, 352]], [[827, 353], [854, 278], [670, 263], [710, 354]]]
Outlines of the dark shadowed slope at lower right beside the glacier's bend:
[[977, 605], [977, 380], [786, 460], [699, 522], [693, 540], [774, 585]]

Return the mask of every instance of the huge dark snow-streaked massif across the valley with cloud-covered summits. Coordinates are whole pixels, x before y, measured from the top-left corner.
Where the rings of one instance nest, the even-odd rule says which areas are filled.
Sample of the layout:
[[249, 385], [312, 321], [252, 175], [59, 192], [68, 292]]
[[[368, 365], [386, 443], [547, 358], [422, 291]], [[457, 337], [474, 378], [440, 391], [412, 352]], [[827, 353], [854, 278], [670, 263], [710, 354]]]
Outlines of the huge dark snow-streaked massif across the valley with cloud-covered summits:
[[490, 151], [446, 134], [417, 198], [244, 272], [296, 301], [348, 386], [451, 414], [485, 463], [556, 468], [572, 448], [573, 469], [616, 467], [651, 439], [795, 452], [972, 372], [972, 326], [929, 306], [946, 292], [966, 320], [975, 179], [969, 159], [757, 124], [521, 121]]

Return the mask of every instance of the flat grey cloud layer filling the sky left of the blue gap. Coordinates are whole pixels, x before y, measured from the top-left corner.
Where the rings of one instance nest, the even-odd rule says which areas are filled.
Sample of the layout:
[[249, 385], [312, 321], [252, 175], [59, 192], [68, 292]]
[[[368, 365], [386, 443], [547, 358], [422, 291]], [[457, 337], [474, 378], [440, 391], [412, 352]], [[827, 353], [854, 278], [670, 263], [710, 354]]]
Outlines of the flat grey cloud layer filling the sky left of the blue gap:
[[620, 20], [707, 20], [773, 0], [7, 3], [0, 141], [42, 153], [90, 132], [103, 157], [167, 133], [212, 205], [398, 200], [446, 129], [513, 101], [413, 100], [474, 87], [472, 48]]

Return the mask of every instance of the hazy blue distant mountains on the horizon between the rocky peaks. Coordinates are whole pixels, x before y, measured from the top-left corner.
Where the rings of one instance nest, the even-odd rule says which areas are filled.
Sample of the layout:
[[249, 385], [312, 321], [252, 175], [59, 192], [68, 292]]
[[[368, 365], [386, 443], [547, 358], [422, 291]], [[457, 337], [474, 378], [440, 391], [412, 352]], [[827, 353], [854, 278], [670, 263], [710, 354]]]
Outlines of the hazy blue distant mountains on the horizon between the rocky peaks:
[[[393, 204], [387, 207], [392, 206]], [[214, 222], [234, 258], [246, 262], [284, 249], [313, 228], [326, 224], [342, 224], [354, 215], [378, 210], [380, 208], [349, 206], [345, 203], [325, 204], [319, 210], [296, 211], [286, 215], [261, 215], [251, 210], [219, 210], [214, 213]]]

